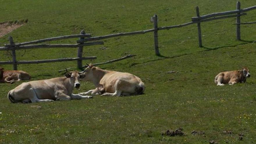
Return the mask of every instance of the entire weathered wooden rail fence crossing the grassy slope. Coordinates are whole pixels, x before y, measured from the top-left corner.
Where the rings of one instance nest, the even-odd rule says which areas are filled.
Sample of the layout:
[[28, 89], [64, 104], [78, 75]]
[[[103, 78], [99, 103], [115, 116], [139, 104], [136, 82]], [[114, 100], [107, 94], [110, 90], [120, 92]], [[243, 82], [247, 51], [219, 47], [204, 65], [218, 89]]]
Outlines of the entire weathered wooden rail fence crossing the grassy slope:
[[[148, 29], [148, 30], [143, 30], [143, 31], [134, 31], [134, 32], [128, 32], [128, 33], [116, 33], [116, 34], [110, 34], [110, 35], [104, 35], [104, 36], [91, 37], [90, 34], [85, 34], [85, 32], [82, 30], [81, 33], [78, 35], [66, 35], [66, 36], [61, 36], [61, 37], [46, 38], [46, 39], [42, 39], [42, 40], [35, 40], [35, 41], [23, 42], [23, 43], [14, 43], [13, 38], [10, 36], [9, 37], [10, 44], [5, 45], [5, 47], [0, 47], [0, 51], [1, 50], [7, 50], [7, 51], [11, 50], [13, 61], [0, 61], [0, 64], [13, 64], [13, 69], [17, 70], [17, 64], [50, 63], [50, 62], [59, 62], [59, 61], [77, 61], [77, 67], [81, 69], [83, 67], [82, 60], [96, 59], [96, 56], [82, 57], [83, 47], [90, 46], [90, 45], [103, 45], [103, 42], [101, 42], [101, 41], [97, 41], [97, 42], [88, 42], [88, 41], [102, 40], [102, 39], [106, 39], [106, 38], [113, 38], [113, 37], [127, 36], [127, 35], [145, 34], [145, 33], [149, 33], [149, 32], [154, 32], [155, 54], [160, 55], [159, 47], [158, 47], [158, 31], [165, 30], [165, 29], [180, 28], [183, 26], [188, 26], [190, 24], [197, 24], [199, 47], [203, 47], [200, 24], [202, 22], [208, 22], [208, 21], [217, 20], [217, 19], [225, 19], [225, 18], [230, 18], [230, 17], [236, 17], [236, 23], [235, 23], [236, 24], [236, 39], [241, 40], [240, 25], [241, 24], [253, 24], [256, 22], [241, 23], [240, 17], [243, 15], [246, 15], [245, 12], [256, 9], [256, 6], [241, 9], [240, 5], [241, 5], [240, 2], [238, 1], [236, 10], [219, 12], [219, 13], [211, 13], [211, 14], [202, 15], [202, 16], [200, 16], [199, 8], [197, 6], [195, 8], [196, 17], [192, 17], [191, 22], [179, 24], [179, 25], [173, 25], [173, 26], [158, 27], [158, 24], [157, 24], [158, 18], [157, 18], [157, 15], [154, 15], [151, 18], [151, 22], [154, 23], [154, 28]], [[234, 15], [232, 15], [232, 14], [234, 14]], [[29, 44], [35, 44], [35, 43], [40, 43], [40, 42], [47, 42], [47, 41], [52, 41], [52, 40], [62, 40], [62, 39], [68, 39], [68, 38], [79, 38], [79, 40], [77, 40], [77, 44], [74, 44], [74, 45], [70, 45], [70, 44], [29, 45]], [[60, 59], [51, 59], [51, 60], [38, 60], [38, 61], [17, 61], [17, 59], [16, 59], [15, 50], [35, 49], [35, 48], [55, 48], [55, 47], [78, 47], [77, 58], [60, 58]]]

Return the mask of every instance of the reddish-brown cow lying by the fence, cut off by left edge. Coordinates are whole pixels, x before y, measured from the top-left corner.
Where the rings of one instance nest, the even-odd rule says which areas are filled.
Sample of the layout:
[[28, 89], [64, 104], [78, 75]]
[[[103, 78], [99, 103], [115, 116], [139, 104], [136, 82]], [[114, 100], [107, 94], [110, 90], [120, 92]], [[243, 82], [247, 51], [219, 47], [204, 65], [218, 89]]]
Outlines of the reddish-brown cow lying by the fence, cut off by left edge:
[[31, 77], [27, 72], [21, 70], [4, 70], [0, 67], [0, 83], [15, 83], [15, 81], [29, 80]]

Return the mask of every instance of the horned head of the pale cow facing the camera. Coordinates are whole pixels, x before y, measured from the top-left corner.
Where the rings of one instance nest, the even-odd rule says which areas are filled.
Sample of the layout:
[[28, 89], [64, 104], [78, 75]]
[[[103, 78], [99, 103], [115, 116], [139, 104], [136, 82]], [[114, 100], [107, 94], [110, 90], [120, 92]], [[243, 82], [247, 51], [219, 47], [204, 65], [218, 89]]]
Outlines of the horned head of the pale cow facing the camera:
[[74, 85], [75, 88], [80, 87], [79, 79], [83, 79], [85, 77], [84, 74], [79, 74], [78, 71], [69, 72], [69, 71], [67, 71], [67, 69], [66, 69], [65, 76], [70, 79], [70, 83], [72, 85]]

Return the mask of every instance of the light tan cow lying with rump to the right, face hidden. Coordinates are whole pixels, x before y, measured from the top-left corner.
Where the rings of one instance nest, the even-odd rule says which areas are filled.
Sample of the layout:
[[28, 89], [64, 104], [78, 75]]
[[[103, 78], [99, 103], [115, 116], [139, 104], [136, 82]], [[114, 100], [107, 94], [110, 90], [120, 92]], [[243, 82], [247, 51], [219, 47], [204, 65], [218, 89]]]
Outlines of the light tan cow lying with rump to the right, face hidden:
[[115, 72], [102, 70], [99, 67], [88, 65], [80, 72], [85, 74], [81, 80], [91, 81], [96, 88], [80, 95], [120, 96], [120, 95], [140, 95], [145, 90], [145, 85], [140, 78], [126, 72]]

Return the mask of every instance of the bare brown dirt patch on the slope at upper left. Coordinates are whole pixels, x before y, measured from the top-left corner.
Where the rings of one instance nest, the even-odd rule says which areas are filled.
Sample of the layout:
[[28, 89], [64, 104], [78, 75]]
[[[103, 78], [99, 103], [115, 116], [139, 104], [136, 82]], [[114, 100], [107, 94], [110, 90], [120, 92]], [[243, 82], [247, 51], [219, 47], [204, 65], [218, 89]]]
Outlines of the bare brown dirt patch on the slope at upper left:
[[0, 23], [0, 38], [10, 33], [11, 31], [18, 29], [19, 27], [23, 26], [23, 24], [27, 23], [28, 19], [24, 20], [16, 20], [16, 21], [9, 21], [9, 22], [1, 22]]

